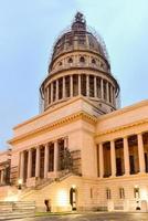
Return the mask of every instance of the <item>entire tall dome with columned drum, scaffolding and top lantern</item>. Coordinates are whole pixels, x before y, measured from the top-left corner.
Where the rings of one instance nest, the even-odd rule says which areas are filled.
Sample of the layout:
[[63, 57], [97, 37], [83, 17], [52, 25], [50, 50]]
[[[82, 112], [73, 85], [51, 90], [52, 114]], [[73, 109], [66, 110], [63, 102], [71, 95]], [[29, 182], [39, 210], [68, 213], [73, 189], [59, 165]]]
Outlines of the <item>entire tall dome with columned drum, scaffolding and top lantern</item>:
[[82, 13], [76, 13], [71, 29], [56, 40], [40, 92], [44, 112], [75, 97], [85, 97], [97, 114], [118, 108], [119, 85], [110, 72], [105, 44], [89, 31]]

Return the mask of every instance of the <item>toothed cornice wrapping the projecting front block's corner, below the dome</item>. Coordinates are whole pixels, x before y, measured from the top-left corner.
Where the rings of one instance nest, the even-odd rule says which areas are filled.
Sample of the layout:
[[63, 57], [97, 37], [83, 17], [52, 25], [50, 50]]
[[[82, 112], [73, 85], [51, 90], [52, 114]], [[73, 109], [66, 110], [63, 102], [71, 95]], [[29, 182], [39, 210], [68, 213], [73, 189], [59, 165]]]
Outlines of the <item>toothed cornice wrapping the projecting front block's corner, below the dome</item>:
[[62, 127], [62, 126], [64, 126], [66, 124], [76, 122], [78, 119], [86, 120], [86, 122], [88, 122], [89, 124], [93, 124], [93, 125], [95, 125], [96, 122], [97, 122], [96, 117], [91, 116], [89, 114], [87, 114], [85, 112], [77, 112], [75, 114], [72, 114], [72, 115], [68, 115], [66, 117], [63, 117], [63, 118], [61, 118], [59, 120], [55, 120], [55, 122], [53, 122], [51, 124], [46, 124], [46, 125], [44, 125], [44, 126], [42, 126], [40, 128], [36, 128], [36, 129], [32, 130], [32, 131], [29, 131], [29, 133], [25, 133], [25, 134], [20, 135], [18, 137], [14, 137], [14, 138], [10, 139], [8, 143], [10, 145], [14, 145], [14, 144], [18, 144], [18, 143], [22, 141], [22, 140], [29, 139], [31, 137], [41, 135], [41, 134], [50, 131], [50, 130], [53, 130], [55, 128]]

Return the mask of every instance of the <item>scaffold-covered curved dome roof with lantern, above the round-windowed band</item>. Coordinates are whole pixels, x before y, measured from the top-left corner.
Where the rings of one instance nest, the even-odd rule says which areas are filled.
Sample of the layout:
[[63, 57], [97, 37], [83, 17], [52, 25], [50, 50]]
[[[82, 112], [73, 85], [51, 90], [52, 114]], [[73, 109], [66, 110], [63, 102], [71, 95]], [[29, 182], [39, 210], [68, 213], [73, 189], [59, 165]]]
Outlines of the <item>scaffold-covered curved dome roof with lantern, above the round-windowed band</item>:
[[86, 21], [81, 12], [77, 12], [70, 28], [55, 42], [53, 48], [52, 62], [61, 54], [74, 50], [88, 50], [98, 53], [109, 64], [107, 51], [103, 40], [86, 27]]

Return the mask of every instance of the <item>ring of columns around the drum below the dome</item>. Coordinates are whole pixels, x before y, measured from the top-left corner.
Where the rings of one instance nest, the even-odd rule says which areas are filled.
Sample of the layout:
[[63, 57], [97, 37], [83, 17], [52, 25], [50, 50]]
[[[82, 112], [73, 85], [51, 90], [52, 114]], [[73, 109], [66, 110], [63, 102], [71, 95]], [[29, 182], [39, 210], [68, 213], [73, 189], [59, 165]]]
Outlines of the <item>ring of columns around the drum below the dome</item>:
[[45, 88], [45, 106], [60, 99], [83, 95], [115, 106], [115, 87], [107, 80], [89, 74], [73, 74], [52, 81]]

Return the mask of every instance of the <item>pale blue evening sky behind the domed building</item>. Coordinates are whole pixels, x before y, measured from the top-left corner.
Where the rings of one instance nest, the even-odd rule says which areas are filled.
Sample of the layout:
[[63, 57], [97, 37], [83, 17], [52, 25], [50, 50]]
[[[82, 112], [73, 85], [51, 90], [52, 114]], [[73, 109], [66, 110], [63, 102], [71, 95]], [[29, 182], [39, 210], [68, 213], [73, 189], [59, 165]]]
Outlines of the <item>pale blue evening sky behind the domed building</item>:
[[148, 98], [147, 0], [0, 0], [0, 150], [39, 114], [53, 44], [77, 11], [104, 39], [121, 107]]

